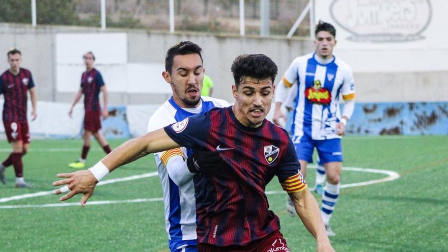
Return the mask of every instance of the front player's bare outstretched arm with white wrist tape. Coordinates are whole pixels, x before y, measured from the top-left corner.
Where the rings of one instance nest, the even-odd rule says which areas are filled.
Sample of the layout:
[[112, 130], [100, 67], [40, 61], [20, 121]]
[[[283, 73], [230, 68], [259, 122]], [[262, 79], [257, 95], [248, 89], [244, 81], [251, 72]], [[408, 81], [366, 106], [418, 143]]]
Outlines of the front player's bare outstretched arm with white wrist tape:
[[[158, 129], [143, 136], [131, 139], [113, 150], [105, 156], [94, 167], [104, 167], [108, 172], [114, 171], [121, 165], [129, 163], [150, 153], [160, 152], [168, 149], [180, 147], [164, 131]], [[78, 193], [84, 194], [81, 199], [81, 206], [86, 206], [87, 200], [93, 195], [96, 184], [99, 182], [90, 170], [78, 171], [75, 173], [58, 174], [63, 180], [53, 182], [54, 186], [67, 185], [70, 190], [60, 198], [61, 201], [71, 199]], [[65, 191], [56, 190], [55, 194]]]

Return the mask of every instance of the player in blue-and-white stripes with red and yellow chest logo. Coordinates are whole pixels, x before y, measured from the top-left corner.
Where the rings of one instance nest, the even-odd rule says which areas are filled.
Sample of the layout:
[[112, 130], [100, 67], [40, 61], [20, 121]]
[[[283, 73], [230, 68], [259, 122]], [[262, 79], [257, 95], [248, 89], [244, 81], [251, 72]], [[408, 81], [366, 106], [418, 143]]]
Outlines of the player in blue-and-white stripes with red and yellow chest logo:
[[[334, 57], [336, 30], [333, 25], [319, 21], [315, 31], [315, 52], [296, 58], [275, 89], [273, 121], [286, 120], [281, 106], [288, 89], [297, 85], [297, 95], [291, 125], [297, 157], [306, 175], [306, 165], [313, 162], [317, 149], [326, 170], [327, 184], [322, 195], [321, 214], [327, 235], [334, 233], [329, 220], [338, 201], [342, 169], [341, 136], [354, 108], [354, 80], [351, 68]], [[345, 101], [342, 115], [339, 100]]]

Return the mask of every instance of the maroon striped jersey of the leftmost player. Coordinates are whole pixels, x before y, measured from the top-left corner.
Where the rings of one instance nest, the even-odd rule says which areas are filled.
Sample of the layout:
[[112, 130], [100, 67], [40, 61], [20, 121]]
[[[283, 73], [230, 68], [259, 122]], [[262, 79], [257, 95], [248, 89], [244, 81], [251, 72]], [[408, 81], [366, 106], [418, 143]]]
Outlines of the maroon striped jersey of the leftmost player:
[[14, 75], [6, 70], [0, 76], [0, 94], [5, 97], [3, 104], [4, 122], [26, 122], [26, 91], [34, 88], [33, 77], [28, 69], [20, 68]]

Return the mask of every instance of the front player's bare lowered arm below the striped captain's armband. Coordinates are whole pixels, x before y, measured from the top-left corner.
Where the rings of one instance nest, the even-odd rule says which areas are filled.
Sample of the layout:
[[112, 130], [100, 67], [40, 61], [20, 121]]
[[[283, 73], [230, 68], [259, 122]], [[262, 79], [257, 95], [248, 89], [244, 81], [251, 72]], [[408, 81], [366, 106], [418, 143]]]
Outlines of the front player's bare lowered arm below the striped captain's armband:
[[319, 206], [309, 188], [288, 193], [306, 229], [316, 238], [317, 251], [334, 251], [325, 232]]

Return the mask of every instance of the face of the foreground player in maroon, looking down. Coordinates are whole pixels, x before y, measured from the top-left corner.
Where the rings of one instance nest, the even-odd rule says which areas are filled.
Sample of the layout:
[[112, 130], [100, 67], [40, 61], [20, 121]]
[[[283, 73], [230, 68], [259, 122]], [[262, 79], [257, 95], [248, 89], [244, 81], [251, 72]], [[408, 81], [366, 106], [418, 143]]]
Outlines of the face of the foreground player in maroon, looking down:
[[246, 127], [260, 127], [274, 97], [272, 80], [245, 77], [238, 88], [232, 86], [232, 91], [235, 97], [233, 111], [238, 121]]

